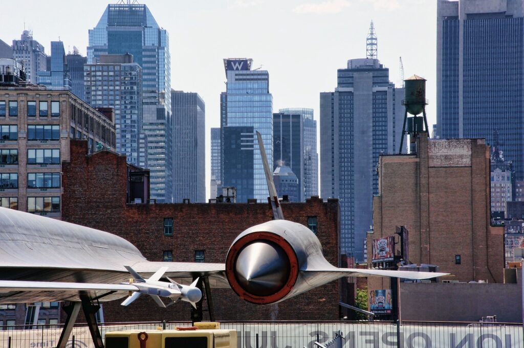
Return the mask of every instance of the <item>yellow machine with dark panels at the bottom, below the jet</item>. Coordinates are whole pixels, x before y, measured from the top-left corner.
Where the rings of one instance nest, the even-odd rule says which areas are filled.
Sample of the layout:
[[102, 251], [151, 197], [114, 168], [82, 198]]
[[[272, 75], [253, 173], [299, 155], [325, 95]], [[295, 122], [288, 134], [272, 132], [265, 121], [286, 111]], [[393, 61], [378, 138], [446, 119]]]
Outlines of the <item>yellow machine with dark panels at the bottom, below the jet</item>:
[[195, 327], [177, 330], [113, 331], [105, 334], [105, 348], [236, 348], [236, 346], [236, 330], [221, 330], [220, 323], [195, 323]]

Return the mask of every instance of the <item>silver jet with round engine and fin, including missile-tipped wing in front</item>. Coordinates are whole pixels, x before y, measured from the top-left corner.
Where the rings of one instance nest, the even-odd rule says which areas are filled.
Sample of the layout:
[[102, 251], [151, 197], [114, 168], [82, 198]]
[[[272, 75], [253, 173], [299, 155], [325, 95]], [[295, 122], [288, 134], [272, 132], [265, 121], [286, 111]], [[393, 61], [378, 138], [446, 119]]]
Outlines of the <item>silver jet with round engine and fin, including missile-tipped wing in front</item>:
[[[0, 303], [69, 301], [57, 348], [65, 347], [81, 307], [95, 347], [103, 348], [95, 319], [100, 307], [94, 302], [125, 298], [122, 305], [127, 306], [147, 294], [161, 307], [166, 307], [161, 297], [170, 301], [168, 306], [179, 299], [195, 306], [202, 298], [199, 277], [206, 291], [228, 287], [245, 301], [268, 304], [342, 277], [447, 275], [331, 265], [308, 227], [284, 219], [264, 144], [256, 134], [274, 220], [239, 234], [224, 264], [151, 262], [133, 244], [111, 233], [0, 208]], [[173, 279], [192, 283], [181, 285]]]

